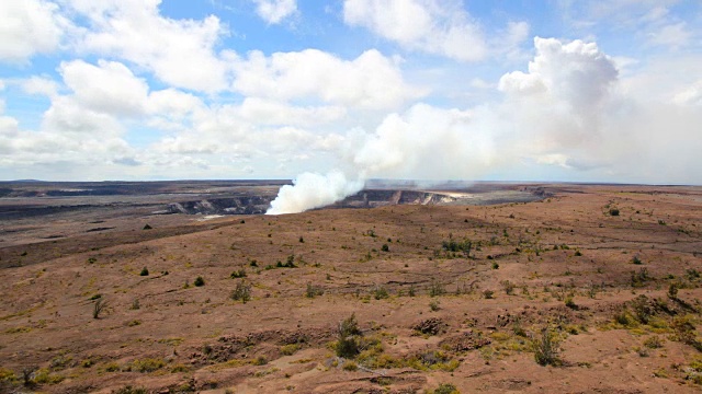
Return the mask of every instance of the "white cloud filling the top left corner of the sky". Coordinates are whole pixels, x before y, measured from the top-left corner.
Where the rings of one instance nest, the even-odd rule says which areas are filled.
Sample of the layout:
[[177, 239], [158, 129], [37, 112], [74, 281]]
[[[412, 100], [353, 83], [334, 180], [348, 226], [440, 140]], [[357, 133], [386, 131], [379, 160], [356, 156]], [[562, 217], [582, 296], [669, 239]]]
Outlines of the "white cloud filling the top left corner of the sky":
[[67, 21], [44, 0], [0, 1], [0, 61], [22, 62], [60, 45]]

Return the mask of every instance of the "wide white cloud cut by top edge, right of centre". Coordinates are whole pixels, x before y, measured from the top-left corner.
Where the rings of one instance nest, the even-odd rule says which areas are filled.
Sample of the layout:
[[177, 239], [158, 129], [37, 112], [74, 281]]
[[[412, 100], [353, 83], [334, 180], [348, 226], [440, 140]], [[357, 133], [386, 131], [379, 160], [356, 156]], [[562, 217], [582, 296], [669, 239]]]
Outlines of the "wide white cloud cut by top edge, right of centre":
[[480, 26], [460, 1], [346, 0], [343, 20], [405, 48], [461, 61], [482, 60], [488, 53]]

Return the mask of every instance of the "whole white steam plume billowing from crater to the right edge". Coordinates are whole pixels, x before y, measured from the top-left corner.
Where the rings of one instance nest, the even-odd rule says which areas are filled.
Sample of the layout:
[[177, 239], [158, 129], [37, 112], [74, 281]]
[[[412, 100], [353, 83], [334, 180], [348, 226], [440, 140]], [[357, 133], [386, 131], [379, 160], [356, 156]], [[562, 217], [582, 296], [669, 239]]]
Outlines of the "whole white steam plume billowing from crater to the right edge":
[[[354, 181], [301, 175], [281, 189], [269, 213], [331, 204], [367, 177], [505, 178], [514, 169], [533, 169], [530, 181], [546, 173], [570, 181], [702, 183], [699, 76], [678, 91], [644, 96], [655, 84], [645, 76], [621, 80], [614, 60], [595, 43], [536, 37], [534, 47], [526, 72], [500, 79], [500, 101], [468, 109], [419, 103], [387, 115], [373, 132], [351, 131], [342, 164], [353, 169]], [[329, 197], [299, 197], [316, 195]]]

